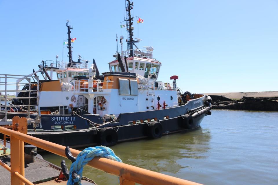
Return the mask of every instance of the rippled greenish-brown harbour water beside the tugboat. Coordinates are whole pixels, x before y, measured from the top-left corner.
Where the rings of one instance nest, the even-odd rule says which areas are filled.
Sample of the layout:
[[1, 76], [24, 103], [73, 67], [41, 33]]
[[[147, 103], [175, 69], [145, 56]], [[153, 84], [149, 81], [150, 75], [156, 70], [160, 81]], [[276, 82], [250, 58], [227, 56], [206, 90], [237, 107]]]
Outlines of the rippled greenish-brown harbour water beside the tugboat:
[[[202, 184], [278, 184], [277, 133], [278, 112], [213, 110], [191, 132], [111, 148], [127, 164]], [[59, 166], [63, 159], [42, 156]], [[88, 166], [83, 175], [118, 184], [116, 176]]]

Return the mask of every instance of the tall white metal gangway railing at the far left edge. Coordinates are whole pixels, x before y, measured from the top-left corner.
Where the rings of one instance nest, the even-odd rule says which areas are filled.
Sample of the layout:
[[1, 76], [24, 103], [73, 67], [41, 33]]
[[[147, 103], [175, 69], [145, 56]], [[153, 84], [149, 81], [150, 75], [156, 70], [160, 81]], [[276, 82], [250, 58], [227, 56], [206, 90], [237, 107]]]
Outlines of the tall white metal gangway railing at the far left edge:
[[[31, 82], [32, 79], [34, 82]], [[26, 82], [22, 82], [23, 80]], [[19, 93], [24, 93], [24, 96], [16, 97], [15, 95]], [[13, 114], [26, 114], [27, 118], [30, 118], [30, 114], [34, 114], [31, 108], [37, 108], [36, 114], [40, 116], [38, 76], [0, 74], [0, 94], [1, 125], [5, 124], [8, 116]], [[20, 103], [15, 103], [19, 100]]]

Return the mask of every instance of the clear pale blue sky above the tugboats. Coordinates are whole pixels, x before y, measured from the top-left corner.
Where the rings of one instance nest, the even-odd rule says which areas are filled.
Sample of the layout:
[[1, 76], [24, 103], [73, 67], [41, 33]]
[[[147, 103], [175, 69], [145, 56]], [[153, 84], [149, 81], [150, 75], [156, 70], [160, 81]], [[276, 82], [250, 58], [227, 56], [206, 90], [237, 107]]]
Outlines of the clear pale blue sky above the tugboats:
[[[178, 87], [193, 93], [278, 90], [278, 1], [134, 0], [132, 14], [144, 19], [134, 21], [139, 47], [152, 46], [162, 62], [160, 81], [178, 75]], [[73, 59], [95, 58], [109, 71], [116, 34], [126, 39], [124, 16], [124, 0], [0, 0], [0, 73], [27, 75], [41, 60], [61, 60], [67, 19]]]

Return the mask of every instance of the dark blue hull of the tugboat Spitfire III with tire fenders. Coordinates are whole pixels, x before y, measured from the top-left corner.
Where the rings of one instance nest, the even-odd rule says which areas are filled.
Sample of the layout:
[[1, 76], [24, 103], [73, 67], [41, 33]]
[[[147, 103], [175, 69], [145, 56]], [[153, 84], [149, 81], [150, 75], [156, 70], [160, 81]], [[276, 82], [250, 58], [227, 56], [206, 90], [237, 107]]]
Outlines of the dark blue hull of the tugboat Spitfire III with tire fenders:
[[[209, 114], [211, 104], [206, 97], [189, 101], [183, 106], [151, 110], [144, 112], [123, 113], [115, 123], [103, 124], [99, 115], [42, 115], [37, 132], [29, 135], [70, 147], [85, 147], [95, 145], [115, 145], [118, 142], [142, 138], [160, 138], [162, 135], [173, 134], [194, 129], [206, 114]], [[90, 126], [86, 119], [98, 124], [98, 128]], [[77, 129], [66, 130], [67, 126]], [[31, 129], [32, 125], [28, 127]], [[54, 130], [61, 127], [63, 130]]]

